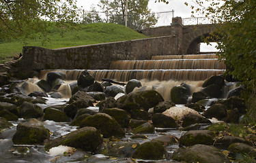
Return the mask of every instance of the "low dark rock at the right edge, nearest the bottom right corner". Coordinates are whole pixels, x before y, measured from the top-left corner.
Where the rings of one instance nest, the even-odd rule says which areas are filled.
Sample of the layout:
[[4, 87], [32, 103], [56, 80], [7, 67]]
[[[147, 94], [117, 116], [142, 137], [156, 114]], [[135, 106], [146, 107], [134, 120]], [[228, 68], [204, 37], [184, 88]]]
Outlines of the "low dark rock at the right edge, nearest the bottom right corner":
[[250, 145], [244, 143], [233, 143], [229, 146], [228, 150], [230, 151], [230, 156], [233, 158], [239, 156], [251, 156], [252, 158], [256, 158], [256, 149]]

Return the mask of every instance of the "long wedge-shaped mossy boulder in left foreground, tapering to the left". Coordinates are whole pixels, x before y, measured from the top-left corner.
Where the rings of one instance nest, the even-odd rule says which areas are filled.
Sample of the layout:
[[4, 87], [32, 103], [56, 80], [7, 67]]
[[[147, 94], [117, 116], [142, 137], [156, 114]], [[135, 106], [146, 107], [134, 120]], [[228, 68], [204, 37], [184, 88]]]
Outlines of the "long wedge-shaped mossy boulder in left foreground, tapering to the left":
[[59, 137], [48, 142], [44, 149], [48, 151], [52, 147], [66, 145], [68, 147], [81, 148], [84, 151], [95, 153], [101, 144], [102, 138], [100, 137], [100, 132], [94, 127], [84, 127], [70, 132], [64, 137]]

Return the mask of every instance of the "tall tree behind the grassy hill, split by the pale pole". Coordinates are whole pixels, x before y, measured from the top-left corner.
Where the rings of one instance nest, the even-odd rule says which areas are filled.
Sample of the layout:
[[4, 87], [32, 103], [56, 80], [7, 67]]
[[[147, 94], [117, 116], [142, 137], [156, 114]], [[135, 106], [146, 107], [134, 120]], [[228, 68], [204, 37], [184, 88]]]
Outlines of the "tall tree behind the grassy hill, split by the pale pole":
[[[156, 24], [157, 18], [154, 14], [150, 14], [148, 1], [128, 0], [128, 26], [139, 29]], [[126, 0], [100, 0], [99, 7], [106, 13], [108, 22], [124, 24]]]

